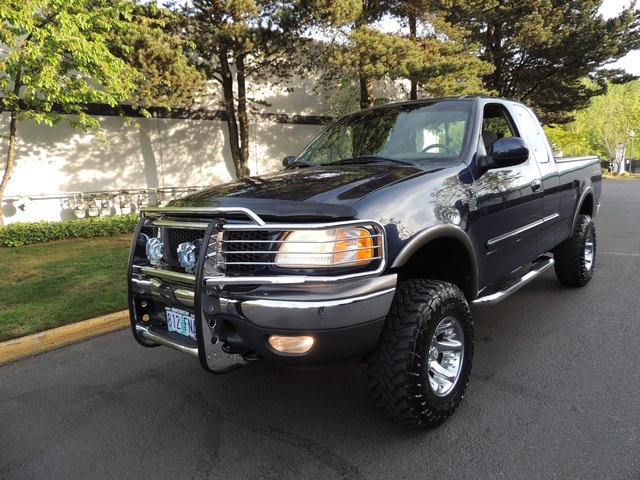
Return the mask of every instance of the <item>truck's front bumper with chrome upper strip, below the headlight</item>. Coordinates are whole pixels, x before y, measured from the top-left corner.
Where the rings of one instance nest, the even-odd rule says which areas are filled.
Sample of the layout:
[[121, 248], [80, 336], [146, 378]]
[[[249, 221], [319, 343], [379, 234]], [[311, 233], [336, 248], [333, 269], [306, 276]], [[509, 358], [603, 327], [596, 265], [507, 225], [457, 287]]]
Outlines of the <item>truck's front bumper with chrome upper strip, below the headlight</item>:
[[[195, 290], [139, 275], [132, 281], [133, 333], [146, 346], [165, 345], [200, 359], [213, 372], [257, 356], [289, 367], [321, 368], [359, 358], [380, 335], [396, 286], [395, 275], [336, 284], [260, 286], [243, 295]], [[169, 332], [165, 309], [194, 315], [197, 340]], [[305, 354], [276, 351], [269, 336], [307, 335]]]

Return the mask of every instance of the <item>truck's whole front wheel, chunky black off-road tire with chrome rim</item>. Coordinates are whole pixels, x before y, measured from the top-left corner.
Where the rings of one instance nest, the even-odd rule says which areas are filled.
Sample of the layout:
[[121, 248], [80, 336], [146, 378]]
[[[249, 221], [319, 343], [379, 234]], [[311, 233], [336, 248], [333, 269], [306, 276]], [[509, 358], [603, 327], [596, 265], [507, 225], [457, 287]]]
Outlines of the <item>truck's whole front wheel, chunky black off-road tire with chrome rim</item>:
[[404, 424], [440, 425], [462, 401], [473, 348], [471, 313], [457, 287], [431, 280], [400, 284], [367, 357], [376, 405]]

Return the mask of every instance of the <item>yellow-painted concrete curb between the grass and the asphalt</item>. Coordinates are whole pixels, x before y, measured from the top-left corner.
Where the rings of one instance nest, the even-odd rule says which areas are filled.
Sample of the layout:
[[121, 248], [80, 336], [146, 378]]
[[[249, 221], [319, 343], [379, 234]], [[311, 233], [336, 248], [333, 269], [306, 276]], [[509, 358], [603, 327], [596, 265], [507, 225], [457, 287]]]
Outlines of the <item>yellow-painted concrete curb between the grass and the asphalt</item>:
[[111, 313], [83, 322], [0, 343], [0, 365], [128, 327], [129, 312]]

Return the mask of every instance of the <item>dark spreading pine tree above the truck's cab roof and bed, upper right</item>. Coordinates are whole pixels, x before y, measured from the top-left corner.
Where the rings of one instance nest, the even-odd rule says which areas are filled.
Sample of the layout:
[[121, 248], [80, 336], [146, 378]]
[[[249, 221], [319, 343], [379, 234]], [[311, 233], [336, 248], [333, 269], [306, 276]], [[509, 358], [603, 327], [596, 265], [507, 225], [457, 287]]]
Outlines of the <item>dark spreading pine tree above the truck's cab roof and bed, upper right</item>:
[[[488, 89], [525, 101], [545, 123], [567, 122], [570, 112], [606, 91], [601, 67], [640, 47], [635, 1], [620, 15], [598, 15], [602, 0], [432, 0], [433, 8], [464, 27], [495, 70]], [[590, 77], [598, 88], [585, 88]], [[628, 78], [626, 78], [628, 80]]]

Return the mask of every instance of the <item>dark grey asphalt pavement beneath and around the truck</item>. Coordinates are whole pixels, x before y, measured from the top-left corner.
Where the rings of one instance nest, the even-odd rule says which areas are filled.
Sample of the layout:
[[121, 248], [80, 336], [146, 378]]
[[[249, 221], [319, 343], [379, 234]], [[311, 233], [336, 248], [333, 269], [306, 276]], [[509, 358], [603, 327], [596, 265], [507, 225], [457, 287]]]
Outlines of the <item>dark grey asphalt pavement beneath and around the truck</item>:
[[593, 280], [473, 307], [467, 395], [421, 432], [360, 366], [223, 376], [123, 330], [0, 367], [0, 478], [640, 479], [640, 182], [605, 181]]

